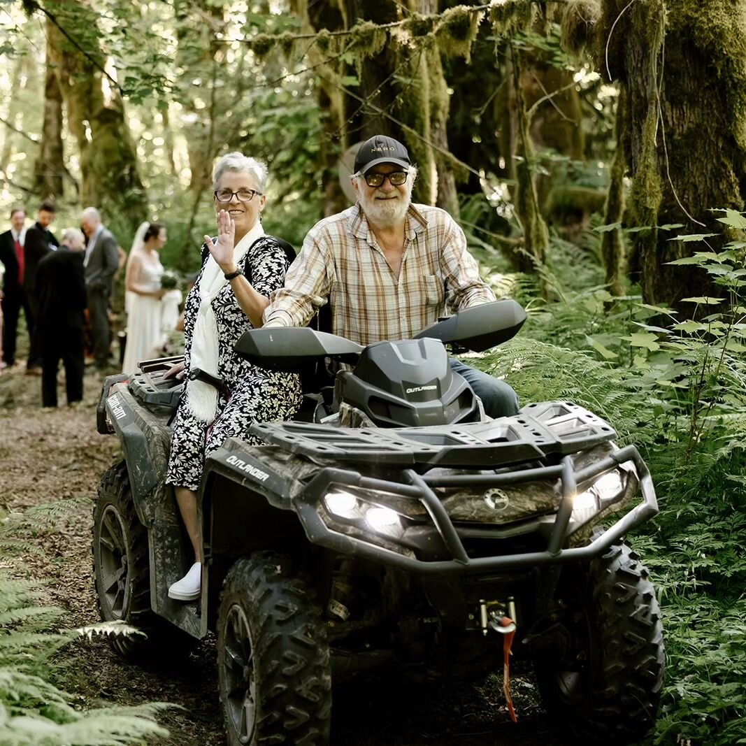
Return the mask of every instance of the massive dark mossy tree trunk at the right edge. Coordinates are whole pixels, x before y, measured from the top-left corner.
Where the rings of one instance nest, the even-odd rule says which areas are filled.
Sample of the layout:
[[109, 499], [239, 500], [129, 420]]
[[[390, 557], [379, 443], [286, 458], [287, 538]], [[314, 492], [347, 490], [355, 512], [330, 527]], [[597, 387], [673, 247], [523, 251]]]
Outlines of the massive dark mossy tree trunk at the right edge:
[[[601, 70], [629, 94], [633, 217], [638, 225], [719, 232], [710, 210], [744, 207], [746, 0], [650, 0], [622, 13], [625, 5], [604, 2], [598, 39]], [[703, 272], [666, 264], [703, 244], [670, 237], [637, 234], [642, 291], [652, 304], [708, 292]], [[692, 312], [692, 304], [678, 307]]]

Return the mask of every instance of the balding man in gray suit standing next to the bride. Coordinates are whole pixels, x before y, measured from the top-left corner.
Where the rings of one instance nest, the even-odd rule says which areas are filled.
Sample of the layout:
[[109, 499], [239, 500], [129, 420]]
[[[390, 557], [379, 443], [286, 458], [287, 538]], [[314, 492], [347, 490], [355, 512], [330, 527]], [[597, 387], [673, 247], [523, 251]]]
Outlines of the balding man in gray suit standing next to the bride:
[[93, 357], [96, 367], [103, 369], [109, 362], [109, 297], [114, 273], [119, 268], [119, 251], [116, 239], [101, 224], [101, 215], [95, 207], [83, 210], [81, 228], [88, 239], [83, 263], [88, 314], [93, 332]]

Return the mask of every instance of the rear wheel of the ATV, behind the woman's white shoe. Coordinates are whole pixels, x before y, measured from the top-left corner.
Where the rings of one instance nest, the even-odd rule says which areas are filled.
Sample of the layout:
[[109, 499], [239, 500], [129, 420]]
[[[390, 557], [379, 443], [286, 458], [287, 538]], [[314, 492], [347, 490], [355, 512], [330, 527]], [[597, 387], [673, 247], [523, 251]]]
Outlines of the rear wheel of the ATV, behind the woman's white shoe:
[[150, 606], [148, 532], [137, 518], [125, 462], [104, 472], [93, 507], [93, 576], [104, 621], [125, 621], [144, 635], [110, 635], [129, 659], [188, 652], [196, 640], [166, 623]]

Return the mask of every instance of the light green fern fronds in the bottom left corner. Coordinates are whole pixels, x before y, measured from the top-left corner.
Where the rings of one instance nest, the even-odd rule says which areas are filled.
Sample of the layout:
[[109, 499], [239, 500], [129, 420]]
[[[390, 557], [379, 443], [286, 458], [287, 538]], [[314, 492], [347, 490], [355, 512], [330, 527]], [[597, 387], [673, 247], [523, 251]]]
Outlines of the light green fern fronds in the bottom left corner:
[[[50, 530], [70, 501], [11, 513], [0, 521], [5, 557], [28, 551], [38, 533]], [[98, 707], [81, 711], [72, 695], [52, 683], [55, 656], [81, 634], [134, 633], [112, 625], [50, 632], [61, 609], [40, 604], [41, 586], [0, 569], [0, 743], [3, 746], [125, 746], [167, 736], [155, 717], [163, 704]]]

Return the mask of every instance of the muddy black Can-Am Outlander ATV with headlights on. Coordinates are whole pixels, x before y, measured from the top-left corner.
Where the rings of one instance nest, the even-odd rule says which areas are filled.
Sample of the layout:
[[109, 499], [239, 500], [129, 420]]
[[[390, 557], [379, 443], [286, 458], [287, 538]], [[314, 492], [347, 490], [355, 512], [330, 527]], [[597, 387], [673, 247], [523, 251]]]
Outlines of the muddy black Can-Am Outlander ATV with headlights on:
[[497, 301], [364, 348], [311, 328], [245, 333], [236, 351], [265, 368], [339, 369], [305, 420], [255, 422], [266, 445], [227, 439], [207, 458], [202, 595], [189, 604], [168, 597], [192, 562], [163, 483], [174, 360], [108, 378], [98, 430], [125, 459], [98, 490], [95, 586], [102, 618], [146, 635], [116, 649], [178, 650], [215, 630], [228, 743], [326, 744], [333, 678], [385, 665], [479, 680], [503, 670], [508, 634], [565, 733], [641, 739], [664, 649], [624, 537], [657, 512], [648, 468], [567, 401], [487, 418], [448, 365], [446, 344], [483, 351], [524, 319]]

